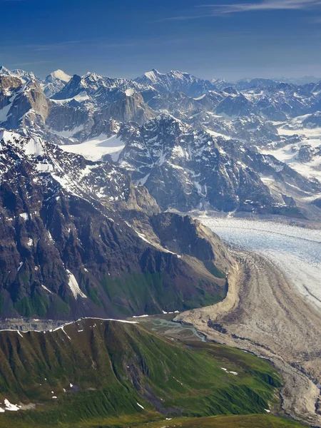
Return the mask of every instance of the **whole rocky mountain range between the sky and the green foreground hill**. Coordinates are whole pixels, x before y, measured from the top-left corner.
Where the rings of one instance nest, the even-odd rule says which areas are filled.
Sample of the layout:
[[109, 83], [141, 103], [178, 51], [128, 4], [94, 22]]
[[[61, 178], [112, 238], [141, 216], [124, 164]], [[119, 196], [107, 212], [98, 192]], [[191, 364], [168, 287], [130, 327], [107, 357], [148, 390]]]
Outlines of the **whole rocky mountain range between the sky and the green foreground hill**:
[[177, 212], [320, 215], [317, 175], [273, 156], [296, 145], [300, 164], [321, 160], [293, 133], [320, 125], [320, 83], [223, 86], [179, 71], [41, 81], [0, 69], [1, 315], [209, 305], [233, 258]]

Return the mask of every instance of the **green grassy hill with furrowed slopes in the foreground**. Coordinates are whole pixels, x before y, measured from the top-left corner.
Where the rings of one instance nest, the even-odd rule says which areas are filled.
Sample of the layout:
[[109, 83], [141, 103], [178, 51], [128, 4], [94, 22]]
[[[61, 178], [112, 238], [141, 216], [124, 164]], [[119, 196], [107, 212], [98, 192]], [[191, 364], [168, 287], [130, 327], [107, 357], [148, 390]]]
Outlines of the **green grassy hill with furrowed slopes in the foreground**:
[[36, 406], [0, 413], [1, 428], [264, 414], [280, 387], [277, 372], [253, 355], [208, 343], [186, 346], [138, 324], [87, 319], [21, 335], [0, 332], [0, 407], [4, 399]]

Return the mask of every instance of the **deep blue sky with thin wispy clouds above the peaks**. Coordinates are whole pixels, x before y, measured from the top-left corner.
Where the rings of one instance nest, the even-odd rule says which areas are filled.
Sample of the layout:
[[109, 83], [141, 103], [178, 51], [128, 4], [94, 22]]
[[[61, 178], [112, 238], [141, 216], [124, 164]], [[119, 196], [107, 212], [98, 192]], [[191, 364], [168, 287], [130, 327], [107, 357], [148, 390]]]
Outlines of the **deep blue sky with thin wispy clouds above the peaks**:
[[321, 77], [321, 0], [0, 0], [0, 11], [0, 65], [41, 78]]

